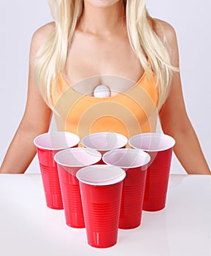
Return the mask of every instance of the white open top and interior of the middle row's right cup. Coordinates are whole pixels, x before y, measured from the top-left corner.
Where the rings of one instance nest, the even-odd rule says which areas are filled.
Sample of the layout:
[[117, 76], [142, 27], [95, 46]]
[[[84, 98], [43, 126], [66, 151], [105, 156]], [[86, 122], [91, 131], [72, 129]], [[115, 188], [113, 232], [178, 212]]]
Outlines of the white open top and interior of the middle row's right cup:
[[105, 153], [103, 160], [107, 165], [134, 168], [147, 165], [150, 162], [150, 155], [140, 149], [120, 148]]

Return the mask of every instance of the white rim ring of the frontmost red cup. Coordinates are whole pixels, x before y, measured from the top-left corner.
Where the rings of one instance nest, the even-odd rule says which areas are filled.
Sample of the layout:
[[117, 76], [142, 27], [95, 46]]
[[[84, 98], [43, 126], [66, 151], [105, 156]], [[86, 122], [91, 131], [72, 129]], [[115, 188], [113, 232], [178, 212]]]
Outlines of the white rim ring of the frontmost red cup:
[[[102, 178], [101, 181], [91, 181], [91, 180], [86, 180], [85, 178], [81, 178], [80, 176], [85, 173], [85, 172], [89, 172], [93, 169], [97, 169], [97, 173], [99, 173], [100, 169], [104, 169], [106, 170], [106, 173], [108, 173], [108, 171], [112, 170], [112, 173], [116, 172], [116, 176], [114, 177], [110, 177], [110, 178]], [[77, 174], [76, 174], [77, 179], [84, 183], [84, 184], [88, 184], [88, 185], [92, 185], [92, 186], [109, 186], [112, 184], [117, 184], [120, 181], [123, 181], [123, 179], [126, 177], [126, 172], [120, 168], [117, 167], [115, 165], [89, 165], [86, 167], [81, 168]]]

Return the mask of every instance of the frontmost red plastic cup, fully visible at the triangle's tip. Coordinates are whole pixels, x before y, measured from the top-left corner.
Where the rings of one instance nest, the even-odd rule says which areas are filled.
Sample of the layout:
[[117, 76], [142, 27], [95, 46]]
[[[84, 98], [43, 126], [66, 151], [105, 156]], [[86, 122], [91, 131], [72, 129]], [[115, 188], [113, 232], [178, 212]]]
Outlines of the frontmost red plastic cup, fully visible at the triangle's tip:
[[88, 244], [107, 248], [118, 240], [123, 179], [115, 166], [93, 165], [78, 171]]

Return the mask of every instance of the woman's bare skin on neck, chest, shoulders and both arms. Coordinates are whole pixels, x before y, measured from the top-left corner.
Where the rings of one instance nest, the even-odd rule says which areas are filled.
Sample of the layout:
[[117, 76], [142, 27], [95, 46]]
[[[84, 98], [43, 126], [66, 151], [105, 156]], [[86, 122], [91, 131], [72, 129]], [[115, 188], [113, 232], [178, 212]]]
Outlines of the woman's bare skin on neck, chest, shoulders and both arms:
[[[99, 82], [103, 82], [104, 75], [137, 81], [144, 72], [129, 45], [123, 1], [110, 0], [108, 2], [112, 4], [107, 7], [98, 7], [92, 2], [94, 0], [85, 1], [83, 16], [74, 33], [64, 74], [69, 86], [80, 80], [97, 78], [93, 80], [93, 88], [81, 89], [83, 94], [88, 94]], [[156, 24], [153, 29], [169, 51], [172, 64], [178, 67], [179, 54], [174, 29], [163, 20], [157, 22], [163, 27], [163, 31]], [[33, 70], [37, 50], [53, 27], [54, 23], [42, 26], [31, 40], [26, 110], [8, 148], [0, 173], [24, 173], [36, 154], [34, 138], [49, 129], [52, 113], [39, 94]], [[118, 91], [114, 84], [117, 83], [110, 82], [111, 89]], [[199, 140], [185, 110], [179, 73], [174, 73], [169, 97], [159, 114], [164, 133], [172, 135], [176, 140], [174, 153], [186, 172], [210, 174]]]

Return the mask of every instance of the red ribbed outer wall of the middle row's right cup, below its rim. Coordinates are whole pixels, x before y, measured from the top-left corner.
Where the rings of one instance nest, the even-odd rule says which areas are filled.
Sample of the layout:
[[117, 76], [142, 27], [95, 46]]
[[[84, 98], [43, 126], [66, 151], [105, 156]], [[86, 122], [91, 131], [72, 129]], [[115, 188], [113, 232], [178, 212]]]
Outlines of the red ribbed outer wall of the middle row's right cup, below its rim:
[[120, 206], [119, 228], [121, 229], [131, 229], [141, 224], [146, 173], [147, 171], [142, 170], [142, 167], [126, 171]]

